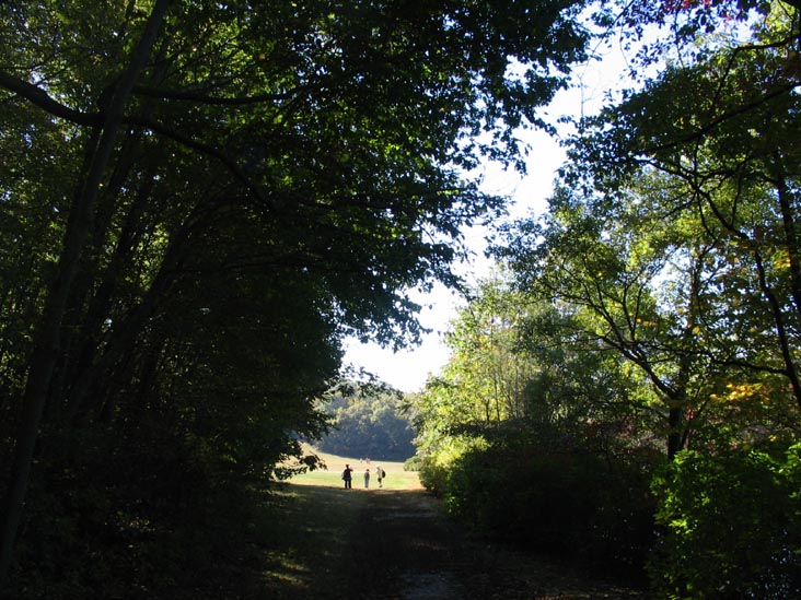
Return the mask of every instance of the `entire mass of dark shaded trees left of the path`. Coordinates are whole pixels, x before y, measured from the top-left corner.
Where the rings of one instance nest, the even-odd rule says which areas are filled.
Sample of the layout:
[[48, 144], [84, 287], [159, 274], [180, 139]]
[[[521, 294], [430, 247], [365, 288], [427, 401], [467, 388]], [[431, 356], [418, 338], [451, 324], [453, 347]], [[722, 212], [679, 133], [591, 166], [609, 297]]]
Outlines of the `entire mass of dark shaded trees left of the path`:
[[323, 433], [343, 337], [417, 339], [501, 210], [465, 173], [522, 164], [579, 8], [0, 3], [0, 580], [224, 569], [210, 515]]

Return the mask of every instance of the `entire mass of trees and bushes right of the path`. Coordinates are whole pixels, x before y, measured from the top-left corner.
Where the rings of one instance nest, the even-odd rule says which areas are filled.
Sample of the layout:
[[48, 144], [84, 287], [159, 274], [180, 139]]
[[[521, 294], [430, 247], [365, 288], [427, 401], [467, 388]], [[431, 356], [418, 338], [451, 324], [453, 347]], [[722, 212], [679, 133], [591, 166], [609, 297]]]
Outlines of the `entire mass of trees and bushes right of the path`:
[[420, 401], [455, 513], [646, 566], [658, 597], [801, 593], [799, 13], [736, 4], [618, 13], [666, 30], [573, 121], [547, 212], [499, 236], [506, 271]]

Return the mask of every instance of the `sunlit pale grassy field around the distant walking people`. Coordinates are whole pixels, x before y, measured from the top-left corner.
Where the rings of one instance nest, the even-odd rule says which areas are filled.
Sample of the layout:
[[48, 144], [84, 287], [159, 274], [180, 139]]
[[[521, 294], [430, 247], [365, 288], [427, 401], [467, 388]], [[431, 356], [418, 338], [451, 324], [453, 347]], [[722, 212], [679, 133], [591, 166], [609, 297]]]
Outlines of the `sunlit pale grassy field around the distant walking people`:
[[418, 490], [420, 489], [420, 479], [416, 471], [404, 471], [403, 462], [384, 462], [372, 460], [369, 464], [360, 461], [358, 458], [341, 457], [318, 452], [313, 448], [309, 449], [323, 459], [327, 469], [318, 469], [302, 475], [297, 475], [289, 480], [290, 483], [297, 485], [322, 485], [326, 487], [343, 487], [341, 474], [346, 464], [350, 464], [353, 469], [353, 490], [363, 490], [363, 474], [365, 469], [370, 469], [370, 489], [379, 486], [375, 479], [375, 469], [381, 466], [386, 471], [384, 487], [390, 490]]

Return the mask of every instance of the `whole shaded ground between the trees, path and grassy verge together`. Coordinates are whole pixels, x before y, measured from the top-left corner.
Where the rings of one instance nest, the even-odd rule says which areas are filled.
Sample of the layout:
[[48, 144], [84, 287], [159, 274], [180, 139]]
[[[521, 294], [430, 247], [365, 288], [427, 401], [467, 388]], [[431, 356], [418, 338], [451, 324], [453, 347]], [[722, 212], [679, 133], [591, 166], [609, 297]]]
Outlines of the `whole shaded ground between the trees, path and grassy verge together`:
[[[531, 600], [650, 598], [558, 562], [473, 538], [404, 473], [352, 490], [301, 481], [281, 503], [264, 576], [270, 598]], [[263, 580], [264, 584], [264, 580]]]

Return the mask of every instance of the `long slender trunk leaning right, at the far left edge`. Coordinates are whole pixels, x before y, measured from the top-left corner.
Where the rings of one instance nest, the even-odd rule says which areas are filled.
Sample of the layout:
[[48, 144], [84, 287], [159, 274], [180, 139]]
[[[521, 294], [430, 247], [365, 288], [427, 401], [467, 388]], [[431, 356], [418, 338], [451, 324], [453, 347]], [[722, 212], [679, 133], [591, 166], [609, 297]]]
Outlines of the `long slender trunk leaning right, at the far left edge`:
[[76, 278], [83, 247], [92, 225], [95, 198], [108, 165], [120, 117], [139, 72], [143, 69], [155, 43], [171, 0], [156, 0], [148, 19], [127, 70], [114, 90], [103, 122], [102, 133], [94, 150], [92, 166], [86, 175], [82, 192], [72, 205], [67, 224], [63, 248], [59, 257], [57, 274], [50, 285], [45, 308], [36, 331], [36, 342], [23, 396], [20, 427], [16, 434], [14, 458], [3, 504], [4, 520], [0, 531], [0, 583], [8, 578], [11, 567], [16, 531], [22, 518], [25, 494], [31, 477], [31, 464], [38, 437], [42, 413], [58, 357], [59, 332], [70, 287]]

